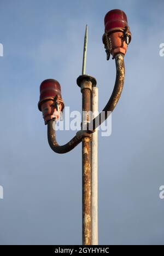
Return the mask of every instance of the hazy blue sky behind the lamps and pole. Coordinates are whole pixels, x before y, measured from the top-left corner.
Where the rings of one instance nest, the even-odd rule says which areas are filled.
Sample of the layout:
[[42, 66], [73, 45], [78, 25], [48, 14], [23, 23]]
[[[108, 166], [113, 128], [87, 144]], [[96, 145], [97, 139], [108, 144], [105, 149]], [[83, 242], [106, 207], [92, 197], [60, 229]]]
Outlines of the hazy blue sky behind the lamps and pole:
[[[102, 44], [104, 16], [122, 9], [132, 42], [126, 79], [112, 115], [112, 135], [99, 136], [99, 244], [163, 245], [163, 1], [1, 1], [0, 243], [81, 243], [81, 146], [50, 149], [37, 108], [39, 85], [57, 79], [71, 110], [81, 110], [81, 73], [96, 77], [99, 110], [114, 85], [115, 63]], [[62, 144], [74, 135], [60, 131]]]

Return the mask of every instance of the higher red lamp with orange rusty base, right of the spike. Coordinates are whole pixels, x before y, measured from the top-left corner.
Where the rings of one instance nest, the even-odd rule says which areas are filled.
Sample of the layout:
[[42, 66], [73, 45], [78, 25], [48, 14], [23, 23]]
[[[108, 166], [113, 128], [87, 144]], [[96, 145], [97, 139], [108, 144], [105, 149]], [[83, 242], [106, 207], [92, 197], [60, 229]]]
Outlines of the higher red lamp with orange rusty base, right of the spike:
[[105, 33], [103, 44], [107, 53], [107, 60], [110, 54], [113, 59], [116, 54], [126, 54], [127, 45], [131, 42], [131, 32], [127, 23], [127, 16], [124, 11], [114, 9], [108, 11], [104, 18]]

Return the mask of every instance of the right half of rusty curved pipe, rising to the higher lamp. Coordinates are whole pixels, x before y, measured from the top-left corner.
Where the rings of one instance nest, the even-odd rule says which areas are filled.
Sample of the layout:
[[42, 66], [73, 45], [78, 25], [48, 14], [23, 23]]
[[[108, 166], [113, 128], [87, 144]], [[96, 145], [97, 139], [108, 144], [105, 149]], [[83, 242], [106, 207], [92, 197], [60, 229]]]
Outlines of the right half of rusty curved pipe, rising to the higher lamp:
[[109, 101], [106, 104], [106, 107], [104, 107], [104, 109], [102, 110], [102, 112], [104, 112], [105, 115], [102, 115], [102, 112], [99, 113], [99, 115], [97, 115], [97, 117], [93, 119], [89, 124], [89, 127], [92, 127], [93, 130], [95, 130], [99, 125], [103, 123], [103, 121], [105, 121], [109, 117], [109, 112], [113, 112], [121, 96], [125, 79], [124, 54], [117, 54], [115, 56], [115, 65], [116, 79], [112, 95], [110, 96]]

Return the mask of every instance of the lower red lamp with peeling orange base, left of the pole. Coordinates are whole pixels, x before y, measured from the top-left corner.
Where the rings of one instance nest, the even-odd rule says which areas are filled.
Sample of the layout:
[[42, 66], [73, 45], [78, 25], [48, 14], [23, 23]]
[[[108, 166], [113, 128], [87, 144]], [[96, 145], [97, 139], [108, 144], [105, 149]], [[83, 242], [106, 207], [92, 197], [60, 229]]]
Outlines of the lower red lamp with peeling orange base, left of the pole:
[[60, 84], [54, 79], [44, 80], [40, 85], [38, 108], [42, 111], [45, 124], [57, 120], [64, 107]]

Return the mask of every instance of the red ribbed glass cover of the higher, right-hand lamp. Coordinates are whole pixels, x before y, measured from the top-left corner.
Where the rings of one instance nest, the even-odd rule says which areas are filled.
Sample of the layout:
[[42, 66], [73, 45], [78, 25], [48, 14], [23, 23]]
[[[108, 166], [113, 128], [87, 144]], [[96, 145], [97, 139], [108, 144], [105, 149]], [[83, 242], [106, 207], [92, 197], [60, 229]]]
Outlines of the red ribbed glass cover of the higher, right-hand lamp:
[[125, 28], [127, 24], [127, 16], [124, 11], [114, 9], [108, 11], [104, 18], [105, 32], [114, 30], [114, 28]]

